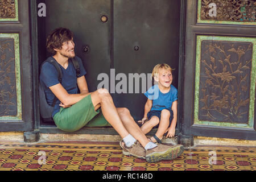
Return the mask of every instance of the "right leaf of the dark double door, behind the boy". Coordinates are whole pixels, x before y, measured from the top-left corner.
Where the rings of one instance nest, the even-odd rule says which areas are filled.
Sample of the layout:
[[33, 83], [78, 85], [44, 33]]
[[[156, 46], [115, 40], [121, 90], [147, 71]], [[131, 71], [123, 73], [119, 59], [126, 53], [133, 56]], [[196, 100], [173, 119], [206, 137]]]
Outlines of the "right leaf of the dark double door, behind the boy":
[[[177, 88], [179, 70], [180, 1], [114, 1], [114, 69], [115, 75], [151, 73], [156, 64], [175, 68], [173, 85]], [[136, 47], [139, 48], [136, 50]], [[116, 81], [116, 84], [118, 81]], [[136, 119], [144, 114], [146, 97], [142, 79], [139, 93], [114, 94], [118, 107], [128, 107]]]

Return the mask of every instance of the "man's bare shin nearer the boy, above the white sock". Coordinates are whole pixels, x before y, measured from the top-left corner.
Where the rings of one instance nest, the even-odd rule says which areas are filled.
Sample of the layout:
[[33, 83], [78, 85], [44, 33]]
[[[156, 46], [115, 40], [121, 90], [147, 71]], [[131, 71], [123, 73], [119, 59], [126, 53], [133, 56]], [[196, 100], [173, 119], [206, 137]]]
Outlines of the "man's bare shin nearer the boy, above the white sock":
[[146, 135], [144, 135], [141, 128], [134, 121], [133, 117], [130, 114], [130, 111], [125, 107], [117, 108], [117, 111], [118, 111], [118, 114], [123, 122], [123, 125], [125, 125], [125, 128], [127, 129], [127, 131], [135, 139], [137, 139], [143, 147], [145, 147], [146, 144], [150, 141], [147, 139]]

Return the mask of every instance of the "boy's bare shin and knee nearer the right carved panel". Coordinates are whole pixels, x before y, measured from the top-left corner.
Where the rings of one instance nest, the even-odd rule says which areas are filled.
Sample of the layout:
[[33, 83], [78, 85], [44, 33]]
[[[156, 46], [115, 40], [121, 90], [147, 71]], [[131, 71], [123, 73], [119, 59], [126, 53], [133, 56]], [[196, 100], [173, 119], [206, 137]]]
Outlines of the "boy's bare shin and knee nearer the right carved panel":
[[[170, 116], [171, 113], [167, 109], [163, 109], [161, 111], [161, 118], [160, 118], [160, 123], [158, 126], [158, 131], [156, 131], [156, 137], [159, 139], [163, 138], [164, 133], [166, 133], [166, 130], [168, 129], [169, 123], [170, 123]], [[152, 137], [151, 138], [153, 142], [156, 142], [155, 139]]]

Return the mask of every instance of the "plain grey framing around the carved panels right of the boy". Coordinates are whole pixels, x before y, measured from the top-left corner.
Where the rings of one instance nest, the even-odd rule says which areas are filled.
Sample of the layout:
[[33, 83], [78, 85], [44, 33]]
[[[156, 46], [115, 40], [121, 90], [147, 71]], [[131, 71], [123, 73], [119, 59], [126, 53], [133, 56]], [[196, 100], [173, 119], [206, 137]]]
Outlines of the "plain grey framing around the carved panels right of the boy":
[[[186, 23], [186, 44], [184, 59], [184, 80], [183, 82], [183, 119], [182, 133], [203, 137], [234, 138], [256, 140], [256, 126], [254, 117], [253, 129], [195, 125], [194, 101], [195, 101], [195, 70], [196, 70], [196, 36], [197, 35], [218, 35], [218, 36], [244, 36], [255, 37], [255, 26], [246, 25], [223, 25], [223, 24], [201, 24], [197, 23], [197, 2], [187, 1], [187, 23]], [[256, 102], [254, 104], [255, 108]]]

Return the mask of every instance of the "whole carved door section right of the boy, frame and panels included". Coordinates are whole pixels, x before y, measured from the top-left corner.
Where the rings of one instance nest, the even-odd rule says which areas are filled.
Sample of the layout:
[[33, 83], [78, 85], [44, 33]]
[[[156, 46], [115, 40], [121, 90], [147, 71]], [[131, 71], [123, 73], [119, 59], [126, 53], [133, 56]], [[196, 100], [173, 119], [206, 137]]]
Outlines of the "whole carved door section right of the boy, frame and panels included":
[[232, 14], [223, 8], [233, 6], [226, 1], [218, 4], [213, 17], [209, 16], [210, 3], [218, 2], [187, 1], [182, 132], [256, 139], [256, 27], [249, 17], [253, 5], [239, 2], [238, 13]]

